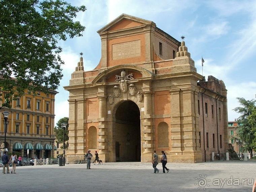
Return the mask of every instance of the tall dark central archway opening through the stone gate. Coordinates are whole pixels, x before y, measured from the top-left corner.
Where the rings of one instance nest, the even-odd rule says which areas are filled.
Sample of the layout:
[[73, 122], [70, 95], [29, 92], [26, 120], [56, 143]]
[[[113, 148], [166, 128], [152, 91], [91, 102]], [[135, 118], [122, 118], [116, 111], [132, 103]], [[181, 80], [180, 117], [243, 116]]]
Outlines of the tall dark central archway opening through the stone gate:
[[133, 101], [122, 102], [116, 110], [116, 161], [140, 161], [140, 111]]

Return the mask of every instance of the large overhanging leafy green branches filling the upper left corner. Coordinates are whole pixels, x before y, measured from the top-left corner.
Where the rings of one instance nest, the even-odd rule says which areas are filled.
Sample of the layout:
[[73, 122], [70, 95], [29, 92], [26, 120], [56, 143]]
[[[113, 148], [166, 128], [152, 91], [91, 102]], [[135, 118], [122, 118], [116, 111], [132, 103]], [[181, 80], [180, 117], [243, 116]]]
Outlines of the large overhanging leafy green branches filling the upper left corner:
[[72, 19], [85, 10], [63, 0], [0, 1], [0, 109], [25, 90], [58, 88], [64, 64], [58, 40], [82, 36], [85, 27]]

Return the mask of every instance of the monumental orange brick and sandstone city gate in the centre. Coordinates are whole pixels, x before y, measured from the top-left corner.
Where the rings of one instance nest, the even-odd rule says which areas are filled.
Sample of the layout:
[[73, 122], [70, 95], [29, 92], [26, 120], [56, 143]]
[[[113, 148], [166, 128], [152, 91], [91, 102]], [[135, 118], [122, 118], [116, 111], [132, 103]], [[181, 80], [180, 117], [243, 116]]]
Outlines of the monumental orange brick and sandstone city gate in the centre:
[[67, 155], [90, 149], [103, 162], [151, 162], [156, 150], [171, 162], [196, 163], [228, 149], [225, 85], [196, 72], [184, 41], [126, 14], [98, 33], [99, 64], [84, 71], [81, 57], [64, 87]]

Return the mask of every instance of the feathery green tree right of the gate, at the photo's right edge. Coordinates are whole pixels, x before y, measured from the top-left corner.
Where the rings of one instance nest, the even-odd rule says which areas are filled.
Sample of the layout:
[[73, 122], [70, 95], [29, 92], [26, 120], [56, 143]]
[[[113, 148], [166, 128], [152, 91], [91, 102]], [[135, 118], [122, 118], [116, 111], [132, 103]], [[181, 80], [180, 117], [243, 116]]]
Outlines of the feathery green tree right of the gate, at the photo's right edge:
[[251, 123], [252, 120], [250, 119], [253, 118], [252, 114], [255, 110], [256, 100], [245, 100], [244, 98], [236, 99], [238, 99], [238, 102], [241, 105], [241, 107], [233, 109], [235, 112], [241, 114], [237, 119], [237, 138], [242, 141], [245, 151], [252, 152], [252, 150], [255, 149], [253, 142], [256, 137], [255, 129], [253, 128], [253, 124]]

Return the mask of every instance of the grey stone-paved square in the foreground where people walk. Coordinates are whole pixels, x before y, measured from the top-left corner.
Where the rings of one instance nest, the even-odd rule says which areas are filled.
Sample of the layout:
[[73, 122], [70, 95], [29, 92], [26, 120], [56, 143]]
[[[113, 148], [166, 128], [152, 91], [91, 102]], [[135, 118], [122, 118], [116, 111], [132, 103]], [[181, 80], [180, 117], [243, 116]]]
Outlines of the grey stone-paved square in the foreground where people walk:
[[[151, 163], [117, 162], [91, 164], [40, 165], [17, 167], [17, 174], [0, 176], [0, 191], [252, 191], [256, 162], [215, 161], [196, 164], [167, 163], [168, 173], [152, 174]], [[11, 168], [11, 167], [10, 167]]]

